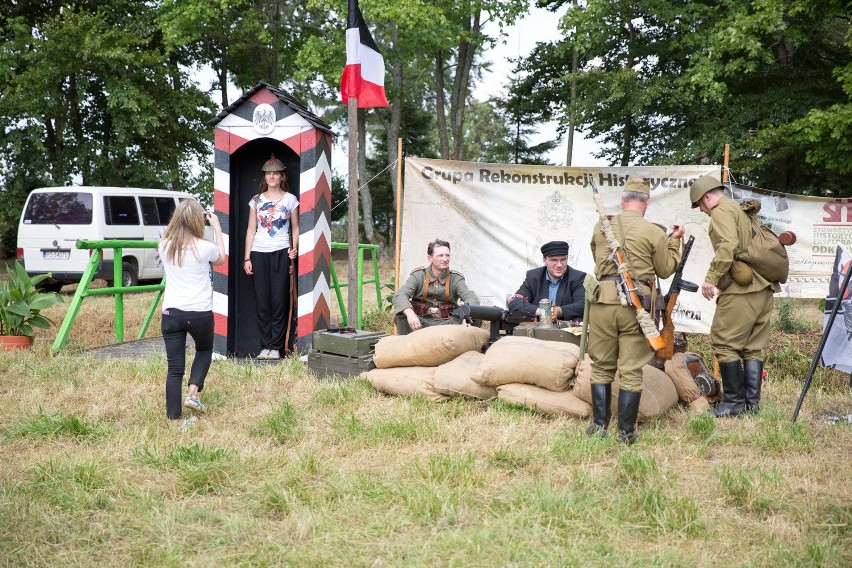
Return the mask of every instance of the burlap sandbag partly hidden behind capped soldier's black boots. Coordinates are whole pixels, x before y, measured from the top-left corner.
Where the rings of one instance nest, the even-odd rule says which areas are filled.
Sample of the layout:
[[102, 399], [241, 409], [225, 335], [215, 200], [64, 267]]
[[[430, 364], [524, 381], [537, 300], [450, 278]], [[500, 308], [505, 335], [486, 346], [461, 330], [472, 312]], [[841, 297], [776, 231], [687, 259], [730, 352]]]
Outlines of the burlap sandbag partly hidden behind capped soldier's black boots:
[[[592, 403], [592, 362], [588, 356], [577, 365], [574, 380], [574, 393], [577, 398], [589, 404]], [[639, 421], [657, 418], [677, 404], [678, 392], [669, 376], [651, 365], [642, 367], [642, 397], [639, 399]], [[610, 411], [618, 415], [618, 372], [612, 383], [612, 400]]]

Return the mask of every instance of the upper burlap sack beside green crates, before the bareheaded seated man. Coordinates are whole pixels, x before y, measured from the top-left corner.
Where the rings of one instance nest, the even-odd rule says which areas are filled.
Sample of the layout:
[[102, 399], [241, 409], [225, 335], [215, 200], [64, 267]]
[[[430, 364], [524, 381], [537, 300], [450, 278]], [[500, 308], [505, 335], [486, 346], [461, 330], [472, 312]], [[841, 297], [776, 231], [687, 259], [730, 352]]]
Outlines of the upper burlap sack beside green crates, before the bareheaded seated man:
[[437, 367], [468, 351], [482, 351], [488, 332], [478, 327], [436, 325], [408, 335], [389, 335], [376, 342], [373, 363], [392, 367]]

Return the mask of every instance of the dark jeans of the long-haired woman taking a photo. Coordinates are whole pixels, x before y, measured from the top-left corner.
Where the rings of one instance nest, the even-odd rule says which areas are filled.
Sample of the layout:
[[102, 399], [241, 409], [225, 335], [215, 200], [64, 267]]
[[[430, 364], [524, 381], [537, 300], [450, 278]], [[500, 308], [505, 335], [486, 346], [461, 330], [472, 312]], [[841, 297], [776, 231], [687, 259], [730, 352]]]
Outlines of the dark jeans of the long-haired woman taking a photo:
[[166, 344], [169, 370], [166, 374], [166, 416], [181, 416], [183, 373], [186, 370], [186, 334], [195, 342], [195, 359], [189, 371], [189, 384], [204, 388], [204, 378], [213, 360], [213, 312], [187, 312], [168, 308], [160, 325]]

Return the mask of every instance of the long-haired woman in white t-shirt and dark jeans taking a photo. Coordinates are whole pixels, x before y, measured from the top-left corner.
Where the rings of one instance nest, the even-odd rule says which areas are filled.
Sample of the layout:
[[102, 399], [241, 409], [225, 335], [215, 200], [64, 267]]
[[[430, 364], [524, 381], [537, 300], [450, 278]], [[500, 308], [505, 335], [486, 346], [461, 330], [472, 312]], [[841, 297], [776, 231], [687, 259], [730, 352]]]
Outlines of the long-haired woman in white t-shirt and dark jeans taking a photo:
[[[215, 244], [204, 238], [204, 220], [210, 222]], [[219, 218], [205, 212], [194, 199], [175, 209], [157, 247], [166, 273], [161, 329], [166, 345], [166, 415], [181, 417], [181, 392], [186, 369], [186, 334], [195, 342], [189, 371], [189, 392], [183, 406], [204, 412], [198, 398], [213, 359], [213, 285], [210, 265], [225, 264], [225, 242]]]

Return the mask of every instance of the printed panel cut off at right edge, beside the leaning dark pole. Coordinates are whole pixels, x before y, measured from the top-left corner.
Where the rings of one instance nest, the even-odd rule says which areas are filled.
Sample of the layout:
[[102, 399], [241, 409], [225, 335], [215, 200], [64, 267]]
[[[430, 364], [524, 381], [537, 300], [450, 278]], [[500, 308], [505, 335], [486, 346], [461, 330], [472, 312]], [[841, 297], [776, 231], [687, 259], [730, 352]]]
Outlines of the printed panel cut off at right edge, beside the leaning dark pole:
[[[834, 367], [844, 373], [852, 373], [852, 290], [848, 283], [844, 289], [841, 289], [850, 268], [852, 268], [852, 253], [846, 247], [839, 245], [834, 255], [828, 296], [825, 299], [825, 320], [822, 330], [828, 335], [822, 352], [822, 363], [826, 367]], [[840, 302], [840, 307], [831, 329], [826, 329], [835, 302]]]

